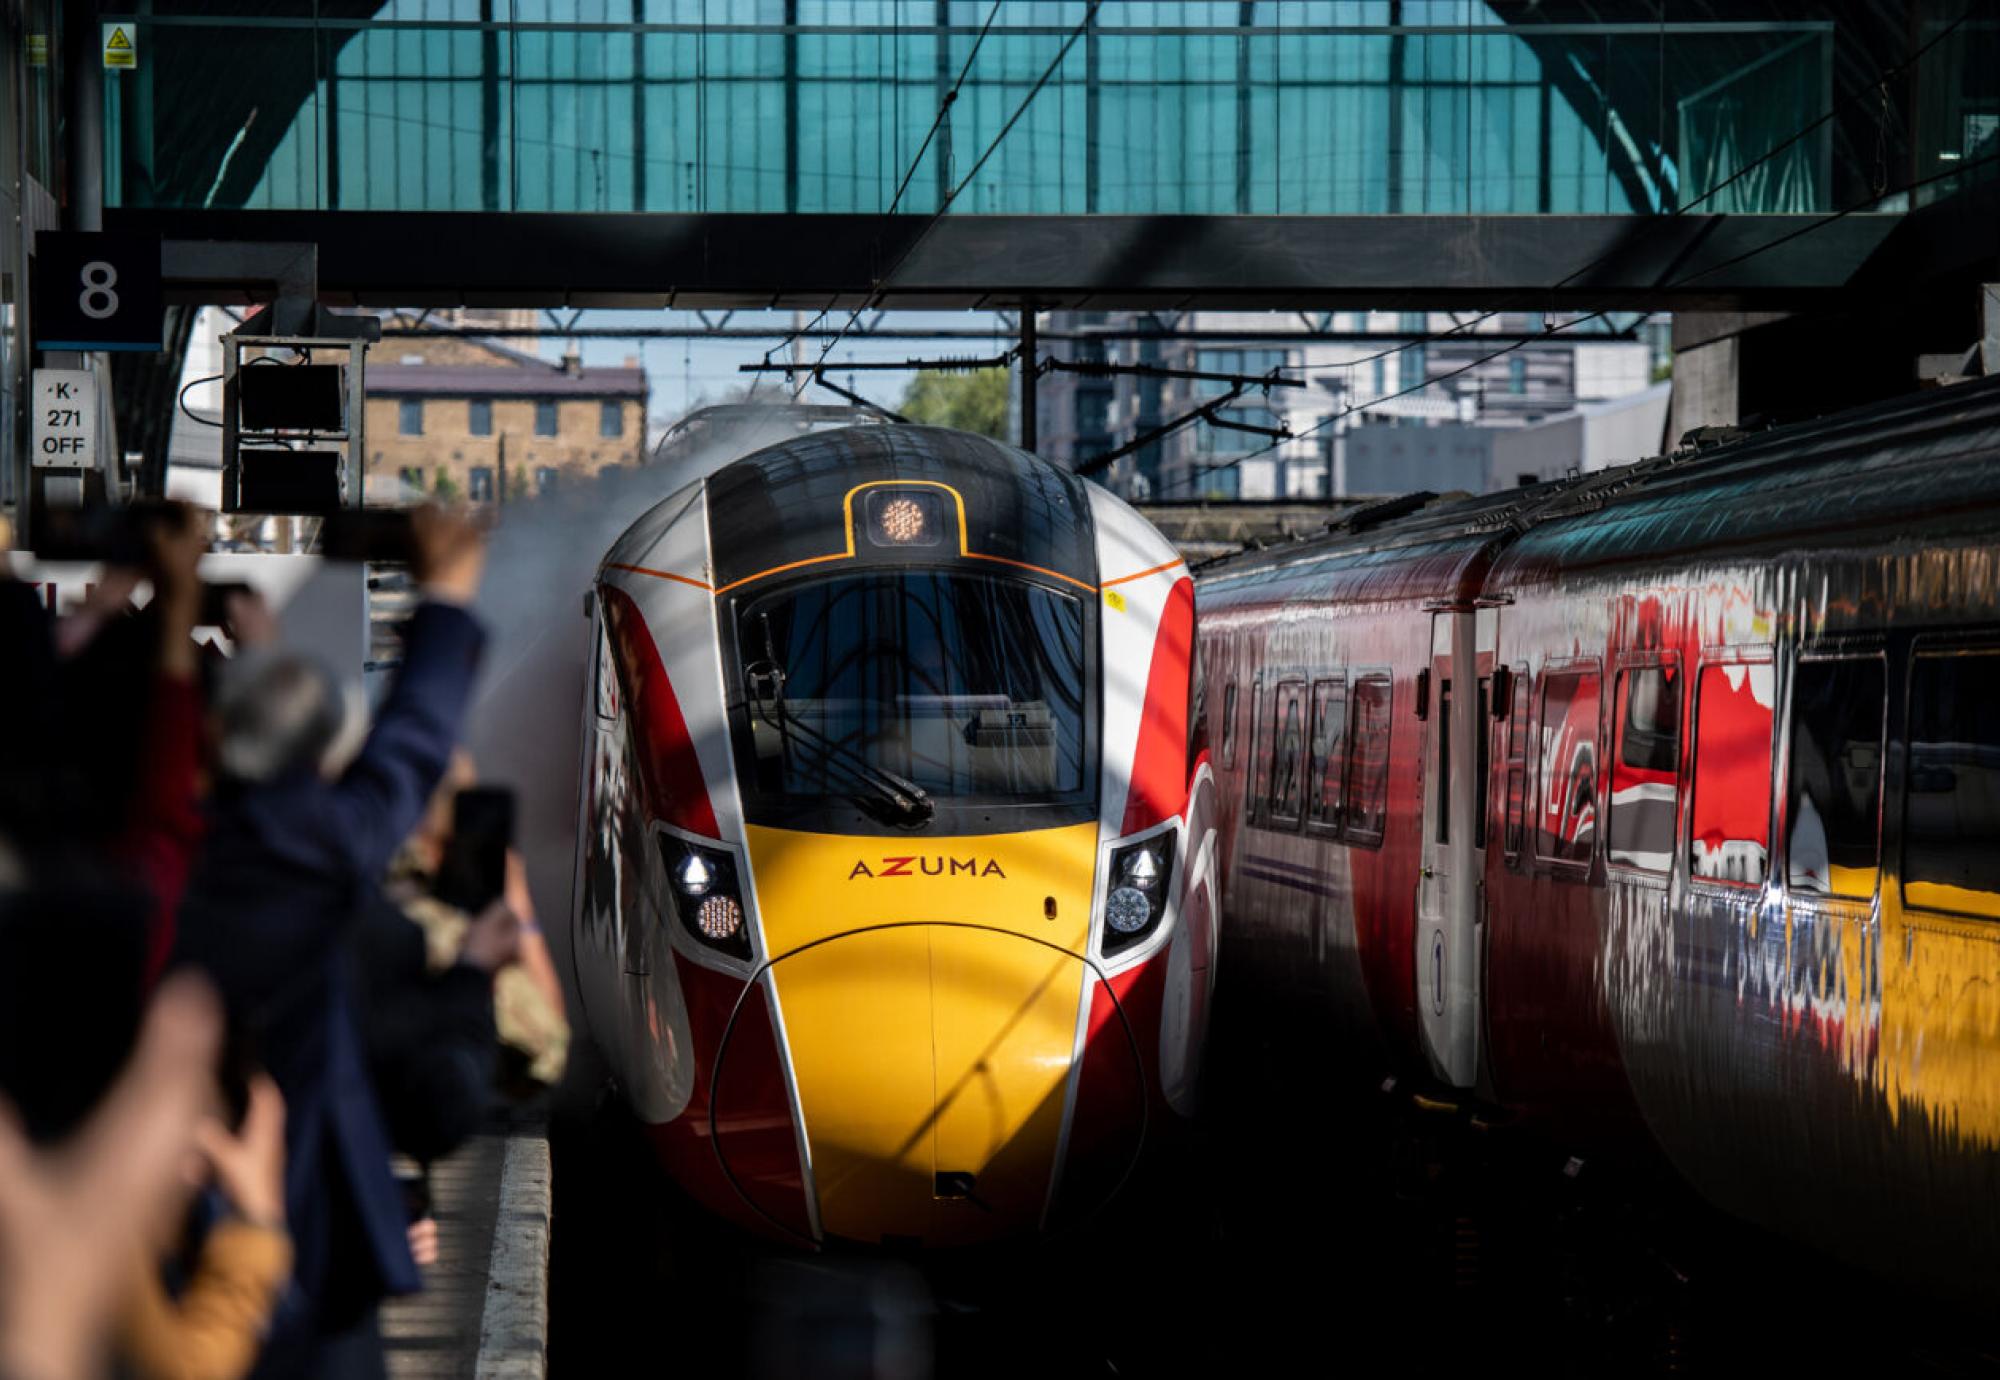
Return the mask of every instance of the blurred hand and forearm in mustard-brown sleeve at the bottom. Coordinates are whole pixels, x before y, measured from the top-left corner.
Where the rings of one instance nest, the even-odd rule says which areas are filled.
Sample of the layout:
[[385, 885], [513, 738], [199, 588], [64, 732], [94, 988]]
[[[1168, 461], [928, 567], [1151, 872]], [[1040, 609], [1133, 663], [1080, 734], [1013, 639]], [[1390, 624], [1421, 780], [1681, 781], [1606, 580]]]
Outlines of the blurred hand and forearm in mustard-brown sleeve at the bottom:
[[240, 1380], [264, 1344], [292, 1272], [284, 1224], [284, 1094], [250, 1080], [242, 1130], [206, 1118], [196, 1144], [228, 1212], [200, 1240], [188, 1282], [170, 1296], [158, 1252], [134, 1262], [118, 1318], [118, 1354], [138, 1380]]

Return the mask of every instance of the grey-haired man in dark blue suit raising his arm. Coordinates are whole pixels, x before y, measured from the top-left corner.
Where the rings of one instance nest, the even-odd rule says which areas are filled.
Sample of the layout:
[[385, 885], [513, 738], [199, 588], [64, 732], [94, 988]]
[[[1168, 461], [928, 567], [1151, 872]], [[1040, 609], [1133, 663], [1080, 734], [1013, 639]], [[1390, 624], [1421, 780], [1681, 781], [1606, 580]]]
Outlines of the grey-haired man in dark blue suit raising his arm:
[[422, 1286], [356, 1026], [348, 936], [444, 774], [484, 634], [466, 612], [484, 542], [412, 514], [424, 602], [362, 738], [358, 690], [310, 658], [244, 656], [214, 696], [218, 784], [180, 916], [286, 1100], [296, 1288], [260, 1376], [384, 1376], [376, 1306]]

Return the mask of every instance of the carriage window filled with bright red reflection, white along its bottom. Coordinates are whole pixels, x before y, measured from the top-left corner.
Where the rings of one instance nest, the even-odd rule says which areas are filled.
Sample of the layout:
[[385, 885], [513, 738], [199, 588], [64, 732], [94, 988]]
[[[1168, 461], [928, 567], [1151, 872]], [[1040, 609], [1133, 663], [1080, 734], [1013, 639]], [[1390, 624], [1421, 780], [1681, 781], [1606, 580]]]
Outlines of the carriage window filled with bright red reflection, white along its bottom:
[[1770, 854], [1770, 730], [1776, 674], [1704, 666], [1694, 702], [1694, 822], [1688, 870], [1758, 884]]

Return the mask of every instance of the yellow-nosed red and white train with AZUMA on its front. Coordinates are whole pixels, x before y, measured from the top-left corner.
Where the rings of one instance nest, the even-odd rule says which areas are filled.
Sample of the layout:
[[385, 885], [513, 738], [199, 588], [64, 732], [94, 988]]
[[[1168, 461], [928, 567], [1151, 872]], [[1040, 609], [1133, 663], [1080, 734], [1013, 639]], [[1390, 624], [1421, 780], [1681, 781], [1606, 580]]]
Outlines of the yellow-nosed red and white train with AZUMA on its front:
[[668, 1172], [764, 1234], [1082, 1220], [1200, 1070], [1186, 568], [978, 436], [846, 426], [696, 468], [594, 586], [592, 1040]]

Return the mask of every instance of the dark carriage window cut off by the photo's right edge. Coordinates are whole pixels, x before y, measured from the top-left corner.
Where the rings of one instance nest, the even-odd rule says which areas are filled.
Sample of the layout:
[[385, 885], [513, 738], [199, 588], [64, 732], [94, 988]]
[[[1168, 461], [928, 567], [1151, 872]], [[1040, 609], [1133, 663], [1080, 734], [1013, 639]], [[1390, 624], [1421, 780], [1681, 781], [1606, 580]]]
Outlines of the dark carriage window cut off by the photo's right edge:
[[2000, 920], [2000, 648], [1918, 656], [1902, 894]]

